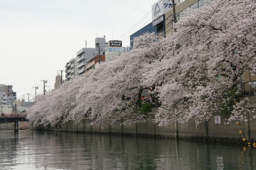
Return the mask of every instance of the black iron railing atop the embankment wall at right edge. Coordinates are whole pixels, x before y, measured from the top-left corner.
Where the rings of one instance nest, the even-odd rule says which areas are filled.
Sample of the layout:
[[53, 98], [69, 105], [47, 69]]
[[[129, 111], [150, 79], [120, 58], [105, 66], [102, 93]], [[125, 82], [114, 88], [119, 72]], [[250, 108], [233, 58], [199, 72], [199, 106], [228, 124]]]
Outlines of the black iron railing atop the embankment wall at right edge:
[[241, 91], [241, 96], [254, 96], [256, 95], [256, 81], [247, 81], [237, 84]]

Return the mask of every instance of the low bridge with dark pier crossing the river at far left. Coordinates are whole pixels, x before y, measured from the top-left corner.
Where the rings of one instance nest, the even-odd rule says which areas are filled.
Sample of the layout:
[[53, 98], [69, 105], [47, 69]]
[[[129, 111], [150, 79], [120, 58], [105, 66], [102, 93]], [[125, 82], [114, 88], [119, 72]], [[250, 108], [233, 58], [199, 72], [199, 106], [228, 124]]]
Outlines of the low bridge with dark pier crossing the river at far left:
[[0, 122], [14, 122], [14, 131], [19, 131], [19, 122], [26, 122], [26, 114], [4, 114], [0, 117]]

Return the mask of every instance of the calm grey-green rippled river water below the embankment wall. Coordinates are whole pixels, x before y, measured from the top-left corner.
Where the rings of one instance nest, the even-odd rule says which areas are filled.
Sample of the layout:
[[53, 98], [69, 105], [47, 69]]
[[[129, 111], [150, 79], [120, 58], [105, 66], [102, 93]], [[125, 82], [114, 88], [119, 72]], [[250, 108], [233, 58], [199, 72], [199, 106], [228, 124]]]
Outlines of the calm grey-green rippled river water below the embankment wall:
[[256, 170], [256, 148], [236, 144], [0, 131], [0, 170]]

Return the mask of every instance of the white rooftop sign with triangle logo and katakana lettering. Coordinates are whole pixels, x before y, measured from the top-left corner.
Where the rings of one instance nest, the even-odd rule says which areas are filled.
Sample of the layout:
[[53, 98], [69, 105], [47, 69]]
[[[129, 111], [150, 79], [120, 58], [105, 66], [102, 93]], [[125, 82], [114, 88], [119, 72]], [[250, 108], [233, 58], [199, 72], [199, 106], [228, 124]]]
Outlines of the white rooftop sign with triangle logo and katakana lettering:
[[[176, 6], [177, 0], [174, 0], [174, 2]], [[152, 5], [152, 21], [167, 13], [172, 8], [172, 0], [159, 0], [158, 2], [156, 2], [156, 4]]]

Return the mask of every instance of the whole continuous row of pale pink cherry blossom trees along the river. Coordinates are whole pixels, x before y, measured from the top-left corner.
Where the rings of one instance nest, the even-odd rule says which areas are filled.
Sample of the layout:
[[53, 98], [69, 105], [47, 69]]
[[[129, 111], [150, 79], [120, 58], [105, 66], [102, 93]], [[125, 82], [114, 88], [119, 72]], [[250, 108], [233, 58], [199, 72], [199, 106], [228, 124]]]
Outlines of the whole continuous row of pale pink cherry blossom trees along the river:
[[207, 121], [223, 112], [228, 121], [246, 121], [248, 98], [238, 99], [237, 83], [246, 71], [256, 73], [256, 0], [207, 1], [174, 27], [166, 38], [135, 38], [131, 52], [39, 96], [28, 118], [44, 125], [84, 116], [94, 124], [145, 121], [138, 109], [142, 91], [151, 89], [161, 102], [159, 125]]

